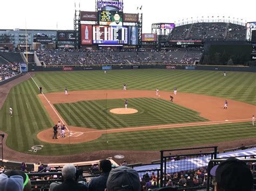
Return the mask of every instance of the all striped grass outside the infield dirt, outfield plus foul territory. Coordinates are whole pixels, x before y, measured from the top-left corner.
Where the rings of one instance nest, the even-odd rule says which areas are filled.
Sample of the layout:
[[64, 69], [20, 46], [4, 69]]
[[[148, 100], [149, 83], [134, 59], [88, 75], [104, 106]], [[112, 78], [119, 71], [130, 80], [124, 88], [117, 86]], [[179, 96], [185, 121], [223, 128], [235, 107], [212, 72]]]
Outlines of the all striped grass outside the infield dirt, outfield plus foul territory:
[[[182, 91], [212, 95], [256, 105], [255, 73], [227, 72], [227, 76], [224, 77], [223, 72], [218, 71], [139, 69], [108, 70], [106, 74], [103, 71], [36, 73], [34, 78], [38, 86], [43, 87], [44, 93], [64, 92], [65, 86], [69, 91], [122, 89], [123, 83], [126, 83], [128, 90], [159, 88], [161, 92], [161, 90], [172, 91], [176, 86], [178, 93]], [[56, 122], [52, 122], [49, 118], [37, 96], [38, 93], [39, 91], [31, 79], [11, 89], [0, 111], [0, 130], [8, 133], [6, 144], [10, 148], [31, 153], [28, 152], [31, 146], [45, 145], [42, 152], [36, 154], [73, 154], [107, 149], [105, 136], [90, 143], [70, 145], [70, 150], [66, 145], [40, 142], [36, 137], [37, 133], [51, 128]], [[14, 109], [14, 117], [10, 117], [8, 114], [10, 106]], [[173, 131], [180, 132], [181, 130], [184, 130], [182, 134], [173, 135]], [[195, 134], [192, 134], [190, 130]], [[142, 139], [144, 135], [146, 135], [146, 139]], [[254, 135], [255, 129], [251, 128], [250, 123], [242, 123], [205, 126], [203, 129], [202, 127], [197, 127], [197, 129], [188, 127], [177, 130], [115, 133], [108, 134], [107, 137], [110, 139], [108, 149], [111, 150], [149, 150], [150, 148], [145, 146], [149, 143], [147, 144], [145, 141], [150, 139], [160, 139], [159, 144], [152, 145], [152, 149], [160, 150], [161, 148], [187, 146], [187, 143], [192, 146], [254, 137]], [[173, 138], [179, 142], [174, 142]], [[163, 146], [161, 146], [162, 140]], [[112, 143], [116, 145], [112, 145]]]

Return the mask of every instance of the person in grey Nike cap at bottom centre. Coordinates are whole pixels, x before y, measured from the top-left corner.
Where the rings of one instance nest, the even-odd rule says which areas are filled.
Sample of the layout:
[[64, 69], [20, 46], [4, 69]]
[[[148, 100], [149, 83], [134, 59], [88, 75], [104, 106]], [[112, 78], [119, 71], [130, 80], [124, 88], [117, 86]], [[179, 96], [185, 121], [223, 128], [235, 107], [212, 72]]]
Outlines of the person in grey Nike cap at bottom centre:
[[112, 169], [106, 183], [107, 191], [130, 190], [140, 191], [139, 174], [133, 168], [119, 166]]

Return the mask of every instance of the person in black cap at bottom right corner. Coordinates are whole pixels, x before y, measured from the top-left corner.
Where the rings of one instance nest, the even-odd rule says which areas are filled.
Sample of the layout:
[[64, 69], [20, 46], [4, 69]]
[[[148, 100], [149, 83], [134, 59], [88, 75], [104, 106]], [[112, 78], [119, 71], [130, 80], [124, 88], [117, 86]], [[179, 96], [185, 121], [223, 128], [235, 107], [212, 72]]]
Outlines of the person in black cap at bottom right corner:
[[252, 191], [253, 176], [245, 162], [229, 158], [211, 169], [215, 191]]

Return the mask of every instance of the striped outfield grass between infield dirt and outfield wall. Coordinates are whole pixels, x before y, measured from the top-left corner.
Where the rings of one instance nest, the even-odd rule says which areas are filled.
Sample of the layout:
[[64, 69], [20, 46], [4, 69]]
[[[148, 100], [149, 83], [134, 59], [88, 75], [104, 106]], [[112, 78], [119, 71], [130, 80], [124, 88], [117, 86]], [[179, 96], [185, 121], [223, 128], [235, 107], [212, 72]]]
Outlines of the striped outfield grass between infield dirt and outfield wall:
[[173, 91], [203, 94], [256, 105], [256, 74], [250, 72], [201, 70], [107, 70], [36, 73], [35, 81], [45, 93], [65, 90], [127, 89]]

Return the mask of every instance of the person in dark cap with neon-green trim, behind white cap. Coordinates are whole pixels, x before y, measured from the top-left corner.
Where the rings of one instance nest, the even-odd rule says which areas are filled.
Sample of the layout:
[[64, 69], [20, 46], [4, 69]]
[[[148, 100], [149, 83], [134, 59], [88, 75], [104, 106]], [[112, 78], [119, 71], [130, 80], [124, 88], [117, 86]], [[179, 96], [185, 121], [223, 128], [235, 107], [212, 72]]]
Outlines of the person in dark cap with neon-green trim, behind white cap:
[[[31, 182], [29, 180], [28, 174], [26, 174], [22, 171], [18, 171], [18, 170], [9, 170], [9, 171], [4, 172], [4, 174], [7, 175], [7, 176], [10, 176], [11, 178], [15, 177], [15, 176], [22, 176], [23, 182], [22, 182], [22, 189], [21, 190], [23, 190], [23, 191], [30, 191], [31, 190]], [[0, 190], [3, 191], [4, 189], [2, 190], [0, 188]], [[10, 189], [10, 190], [15, 190], [15, 189]]]

